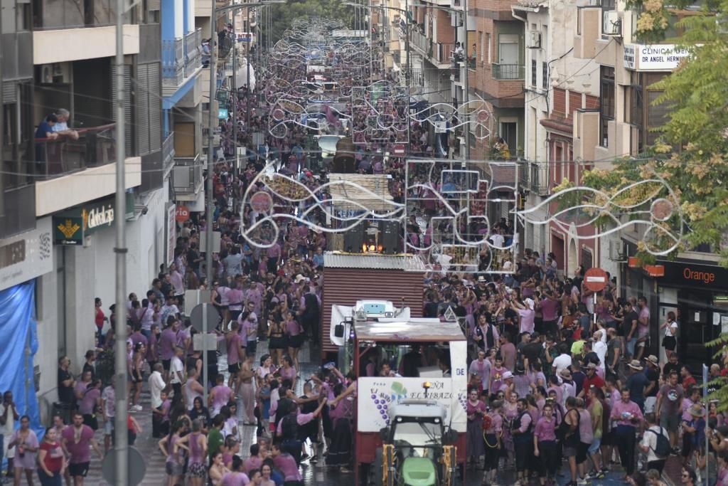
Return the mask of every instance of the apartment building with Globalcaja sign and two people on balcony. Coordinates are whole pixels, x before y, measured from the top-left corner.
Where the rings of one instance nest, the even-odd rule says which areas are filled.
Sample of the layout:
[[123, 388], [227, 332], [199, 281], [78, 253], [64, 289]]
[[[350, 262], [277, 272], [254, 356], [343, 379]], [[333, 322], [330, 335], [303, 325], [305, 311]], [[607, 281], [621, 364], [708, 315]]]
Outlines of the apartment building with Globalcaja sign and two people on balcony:
[[[107, 315], [114, 302], [114, 219], [127, 220], [128, 291], [146, 291], [166, 261], [173, 162], [162, 143], [159, 4], [124, 14], [123, 137], [114, 122], [115, 2], [3, 7], [0, 290], [35, 282], [35, 386], [47, 418], [56, 376], [40, 370], [68, 355], [79, 372], [95, 345], [94, 299]], [[36, 136], [62, 109], [78, 138]], [[116, 143], [126, 149], [124, 208], [114, 207]]]

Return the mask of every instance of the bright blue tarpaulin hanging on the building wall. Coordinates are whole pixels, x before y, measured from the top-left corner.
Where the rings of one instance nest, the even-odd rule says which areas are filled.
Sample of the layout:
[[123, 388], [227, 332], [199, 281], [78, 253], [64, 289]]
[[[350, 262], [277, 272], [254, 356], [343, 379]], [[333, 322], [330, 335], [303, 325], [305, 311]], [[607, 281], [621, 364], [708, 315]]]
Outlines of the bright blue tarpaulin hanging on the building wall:
[[35, 281], [0, 290], [0, 392], [12, 391], [17, 413], [31, 418], [40, 438], [44, 428], [33, 383], [33, 356], [38, 350], [35, 290]]

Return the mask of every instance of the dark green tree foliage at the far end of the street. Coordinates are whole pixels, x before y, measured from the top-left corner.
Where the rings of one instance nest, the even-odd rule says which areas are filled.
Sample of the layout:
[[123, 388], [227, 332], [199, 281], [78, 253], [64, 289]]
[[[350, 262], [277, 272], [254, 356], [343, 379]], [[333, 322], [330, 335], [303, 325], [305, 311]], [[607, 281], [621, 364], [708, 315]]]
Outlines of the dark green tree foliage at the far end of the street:
[[340, 0], [289, 0], [285, 4], [272, 4], [270, 30], [264, 29], [263, 36], [269, 35], [272, 45], [282, 39], [286, 29], [297, 18], [323, 17], [341, 20], [344, 28], [354, 26], [354, 7], [343, 5]]

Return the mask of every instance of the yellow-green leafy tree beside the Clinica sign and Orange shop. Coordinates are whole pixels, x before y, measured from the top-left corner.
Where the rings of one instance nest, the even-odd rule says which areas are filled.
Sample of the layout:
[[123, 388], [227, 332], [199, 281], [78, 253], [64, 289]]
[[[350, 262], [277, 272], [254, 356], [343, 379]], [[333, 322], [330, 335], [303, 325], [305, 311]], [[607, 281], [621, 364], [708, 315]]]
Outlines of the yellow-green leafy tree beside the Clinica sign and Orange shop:
[[[630, 7], [640, 12], [638, 39], [665, 39], [665, 19], [670, 15], [665, 3], [630, 1]], [[674, 9], [675, 3], [670, 4]], [[684, 222], [676, 218], [665, 222], [673, 229], [682, 226], [686, 232], [672, 256], [708, 244], [721, 255], [721, 264], [728, 266], [728, 0], [705, 1], [696, 13], [677, 24], [683, 32], [678, 39], [668, 39], [690, 49], [691, 57], [650, 88], [662, 91], [654, 104], [665, 103], [670, 108], [665, 125], [658, 129], [657, 144], [640, 157], [615, 161], [612, 170], [586, 173], [583, 183], [614, 194], [631, 182], [659, 175], [673, 189], [674, 202], [684, 216]], [[644, 252], [638, 256], [645, 262], [651, 259]], [[722, 361], [728, 334], [707, 346]], [[711, 398], [719, 399], [719, 407], [728, 410], [728, 381], [721, 379], [716, 384], [719, 391]]]

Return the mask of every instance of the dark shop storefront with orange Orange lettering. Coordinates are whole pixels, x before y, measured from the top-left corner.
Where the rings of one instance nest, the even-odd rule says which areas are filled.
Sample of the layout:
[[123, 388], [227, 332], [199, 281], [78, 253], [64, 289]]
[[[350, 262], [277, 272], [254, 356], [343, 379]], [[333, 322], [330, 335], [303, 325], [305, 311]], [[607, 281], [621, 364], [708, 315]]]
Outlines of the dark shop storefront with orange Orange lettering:
[[622, 295], [644, 295], [652, 309], [651, 352], [664, 351], [660, 329], [667, 313], [673, 311], [679, 324], [678, 356], [692, 370], [702, 373], [702, 364], [710, 364], [714, 350], [705, 347], [728, 332], [728, 269], [706, 262], [658, 262], [665, 266], [665, 275], [650, 277], [641, 268], [622, 268]]

